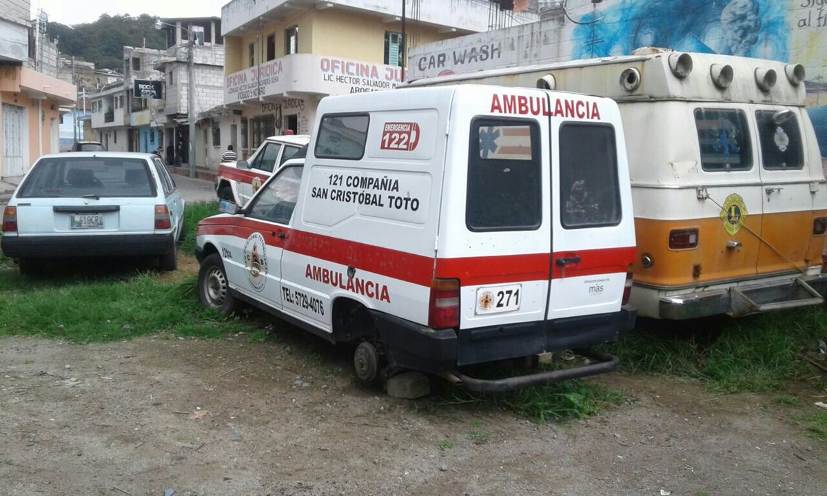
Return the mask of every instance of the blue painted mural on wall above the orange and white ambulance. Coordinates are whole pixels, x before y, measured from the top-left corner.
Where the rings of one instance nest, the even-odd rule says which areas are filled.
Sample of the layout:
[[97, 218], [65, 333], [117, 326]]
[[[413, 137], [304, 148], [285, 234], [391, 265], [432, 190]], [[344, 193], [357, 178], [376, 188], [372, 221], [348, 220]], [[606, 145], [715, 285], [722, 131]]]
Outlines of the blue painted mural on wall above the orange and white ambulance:
[[[827, 0], [619, 0], [581, 16], [573, 59], [629, 55], [642, 46], [794, 61], [810, 93], [827, 99]], [[818, 88], [818, 89], [815, 89]], [[810, 106], [813, 106], [810, 98]], [[810, 108], [827, 156], [827, 107]]]

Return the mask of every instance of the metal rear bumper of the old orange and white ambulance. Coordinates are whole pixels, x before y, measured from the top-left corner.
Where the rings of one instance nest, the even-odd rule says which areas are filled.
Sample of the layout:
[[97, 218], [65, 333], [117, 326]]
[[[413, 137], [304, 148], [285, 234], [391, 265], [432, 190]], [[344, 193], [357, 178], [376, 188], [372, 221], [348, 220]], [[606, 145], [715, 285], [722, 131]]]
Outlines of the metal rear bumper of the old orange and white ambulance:
[[753, 313], [808, 307], [825, 303], [827, 274], [781, 279], [700, 293], [661, 298], [661, 318], [683, 320], [728, 314], [743, 317]]

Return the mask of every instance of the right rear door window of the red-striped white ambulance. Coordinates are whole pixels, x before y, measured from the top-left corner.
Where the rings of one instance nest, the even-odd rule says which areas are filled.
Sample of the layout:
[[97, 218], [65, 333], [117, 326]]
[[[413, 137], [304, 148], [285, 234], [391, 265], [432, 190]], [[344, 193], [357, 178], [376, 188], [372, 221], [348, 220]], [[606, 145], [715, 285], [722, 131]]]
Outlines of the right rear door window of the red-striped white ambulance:
[[620, 222], [614, 127], [566, 122], [560, 126], [560, 202], [566, 229]]

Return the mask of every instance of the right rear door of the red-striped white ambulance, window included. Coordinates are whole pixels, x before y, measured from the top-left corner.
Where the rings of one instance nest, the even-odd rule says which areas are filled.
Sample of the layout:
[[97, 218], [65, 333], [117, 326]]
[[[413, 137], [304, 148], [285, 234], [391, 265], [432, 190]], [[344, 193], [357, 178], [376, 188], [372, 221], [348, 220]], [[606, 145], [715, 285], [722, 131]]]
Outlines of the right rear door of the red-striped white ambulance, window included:
[[[561, 106], [557, 99], [563, 97], [550, 98], [549, 108]], [[550, 117], [549, 319], [619, 312], [635, 256], [624, 136], [612, 123], [620, 122], [619, 112], [605, 100], [577, 101], [573, 106], [581, 104], [597, 112], [581, 112], [576, 117], [584, 118], [578, 120]]]

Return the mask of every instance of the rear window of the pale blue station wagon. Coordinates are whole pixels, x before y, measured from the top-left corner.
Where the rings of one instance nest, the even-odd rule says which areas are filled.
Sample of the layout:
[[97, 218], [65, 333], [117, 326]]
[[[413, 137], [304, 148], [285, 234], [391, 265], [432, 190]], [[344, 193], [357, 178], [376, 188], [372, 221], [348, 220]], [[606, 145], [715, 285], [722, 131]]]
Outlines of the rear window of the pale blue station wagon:
[[37, 162], [17, 198], [154, 197], [146, 160], [117, 157], [53, 158]]

